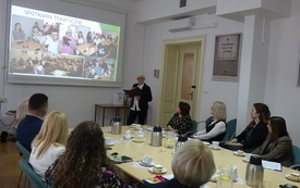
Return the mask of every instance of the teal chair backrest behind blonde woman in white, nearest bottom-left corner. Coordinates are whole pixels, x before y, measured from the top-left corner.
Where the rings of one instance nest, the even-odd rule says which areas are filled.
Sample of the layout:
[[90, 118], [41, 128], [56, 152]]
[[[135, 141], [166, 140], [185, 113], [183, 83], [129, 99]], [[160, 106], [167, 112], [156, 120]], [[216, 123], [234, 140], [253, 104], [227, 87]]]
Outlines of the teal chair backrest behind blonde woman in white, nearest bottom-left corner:
[[47, 188], [46, 184], [40, 179], [40, 177], [34, 172], [33, 167], [26, 161], [25, 159], [21, 159], [19, 161], [19, 165], [22, 168], [22, 171], [26, 174], [28, 177], [32, 186], [34, 188]]

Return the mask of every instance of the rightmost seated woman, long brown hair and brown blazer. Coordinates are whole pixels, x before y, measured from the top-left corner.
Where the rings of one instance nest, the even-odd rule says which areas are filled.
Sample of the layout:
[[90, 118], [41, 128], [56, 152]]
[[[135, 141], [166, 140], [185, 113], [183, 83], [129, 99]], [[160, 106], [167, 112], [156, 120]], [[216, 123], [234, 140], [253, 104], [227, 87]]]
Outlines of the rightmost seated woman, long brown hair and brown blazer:
[[271, 117], [267, 128], [268, 136], [265, 141], [252, 153], [261, 155], [263, 160], [281, 163], [287, 167], [292, 165], [292, 145], [285, 118], [279, 116]]

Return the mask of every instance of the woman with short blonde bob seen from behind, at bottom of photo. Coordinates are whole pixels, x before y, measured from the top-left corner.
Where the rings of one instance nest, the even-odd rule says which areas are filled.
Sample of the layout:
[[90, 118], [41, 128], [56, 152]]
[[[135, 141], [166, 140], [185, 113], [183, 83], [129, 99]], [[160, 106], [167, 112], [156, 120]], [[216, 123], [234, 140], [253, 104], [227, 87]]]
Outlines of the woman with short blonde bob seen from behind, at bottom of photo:
[[145, 183], [143, 188], [199, 188], [215, 173], [212, 151], [201, 140], [188, 140], [172, 159], [173, 178], [158, 184]]

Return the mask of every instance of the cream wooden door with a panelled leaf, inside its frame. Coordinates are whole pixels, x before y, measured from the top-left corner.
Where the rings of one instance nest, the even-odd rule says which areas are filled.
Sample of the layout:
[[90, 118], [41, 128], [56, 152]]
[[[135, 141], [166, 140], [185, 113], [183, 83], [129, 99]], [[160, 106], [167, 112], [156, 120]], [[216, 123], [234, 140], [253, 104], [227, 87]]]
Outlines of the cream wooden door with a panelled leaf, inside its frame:
[[167, 45], [163, 73], [159, 125], [166, 127], [180, 101], [191, 105], [190, 115], [196, 118], [201, 43]]

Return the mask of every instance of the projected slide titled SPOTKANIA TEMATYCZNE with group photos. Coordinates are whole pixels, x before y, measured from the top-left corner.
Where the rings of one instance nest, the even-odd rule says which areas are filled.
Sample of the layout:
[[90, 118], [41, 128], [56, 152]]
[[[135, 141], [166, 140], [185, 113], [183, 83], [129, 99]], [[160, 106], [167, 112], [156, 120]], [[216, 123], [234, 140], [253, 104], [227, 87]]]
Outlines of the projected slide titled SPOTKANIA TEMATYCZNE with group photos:
[[119, 35], [118, 26], [13, 7], [9, 75], [115, 80]]

